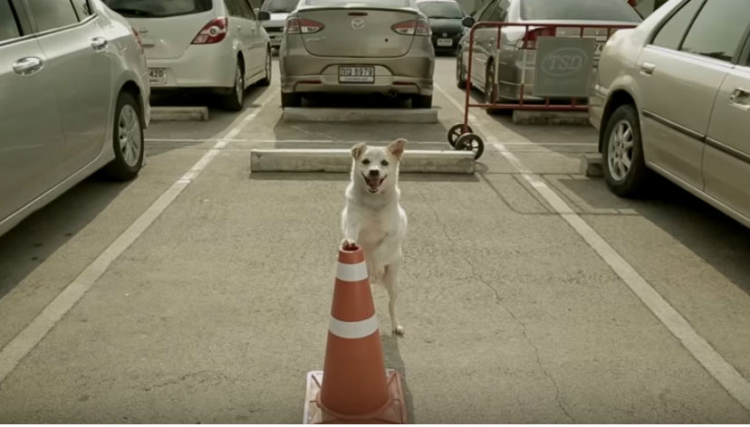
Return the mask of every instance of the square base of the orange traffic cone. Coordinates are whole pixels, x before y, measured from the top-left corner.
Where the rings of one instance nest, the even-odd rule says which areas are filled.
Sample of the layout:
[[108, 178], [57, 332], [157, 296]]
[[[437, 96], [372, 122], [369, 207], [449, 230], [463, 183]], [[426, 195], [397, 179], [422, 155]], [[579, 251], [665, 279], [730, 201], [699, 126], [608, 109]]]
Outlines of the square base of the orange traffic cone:
[[388, 403], [375, 413], [342, 415], [323, 408], [318, 399], [321, 393], [322, 371], [307, 373], [307, 391], [304, 396], [304, 424], [406, 424], [407, 412], [401, 377], [393, 369], [386, 369]]

